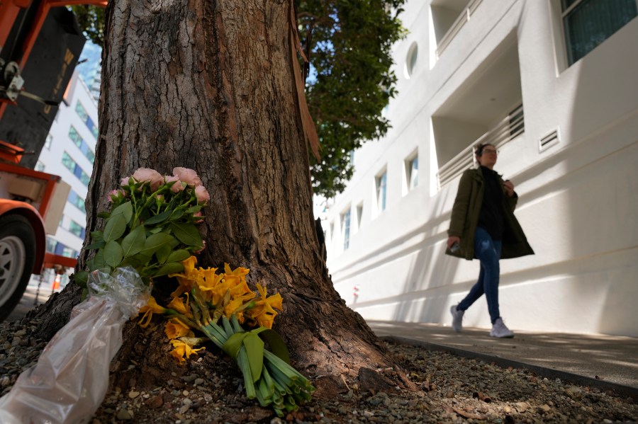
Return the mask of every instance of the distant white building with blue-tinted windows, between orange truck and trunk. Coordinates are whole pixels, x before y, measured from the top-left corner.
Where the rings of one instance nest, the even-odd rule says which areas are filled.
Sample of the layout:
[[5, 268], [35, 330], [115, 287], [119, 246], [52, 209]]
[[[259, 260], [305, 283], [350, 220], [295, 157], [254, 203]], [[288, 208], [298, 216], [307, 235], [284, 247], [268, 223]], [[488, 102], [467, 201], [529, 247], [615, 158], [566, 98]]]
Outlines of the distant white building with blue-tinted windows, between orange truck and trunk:
[[[84, 200], [95, 159], [97, 115], [96, 100], [76, 71], [35, 166], [71, 186], [60, 227], [55, 236], [47, 236], [47, 251], [69, 258], [77, 258], [86, 234]], [[43, 277], [47, 282], [54, 278], [50, 270]], [[63, 277], [62, 286], [66, 282]]]

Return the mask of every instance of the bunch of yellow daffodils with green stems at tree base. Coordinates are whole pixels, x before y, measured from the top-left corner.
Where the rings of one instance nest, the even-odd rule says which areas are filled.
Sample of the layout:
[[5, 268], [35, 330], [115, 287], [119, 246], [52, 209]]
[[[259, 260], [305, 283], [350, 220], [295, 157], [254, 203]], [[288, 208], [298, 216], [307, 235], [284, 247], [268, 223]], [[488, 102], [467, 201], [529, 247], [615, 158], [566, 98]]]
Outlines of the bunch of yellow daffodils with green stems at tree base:
[[[177, 277], [179, 287], [167, 307], [151, 297], [140, 309], [140, 325], [148, 326], [153, 314], [164, 314], [171, 353], [181, 362], [202, 350], [196, 345], [203, 340], [213, 341], [239, 365], [246, 396], [272, 406], [279, 416], [310, 400], [315, 388], [289, 365], [286, 345], [271, 329], [277, 310], [282, 310], [281, 295], [267, 296], [266, 287], [257, 284], [257, 296], [247, 285], [246, 268], [231, 270], [227, 263], [218, 274], [217, 268], [195, 268], [194, 256], [183, 265], [183, 272], [169, 275]], [[245, 331], [242, 324], [257, 328]], [[206, 337], [196, 338], [193, 330]], [[272, 352], [264, 350], [262, 338]]]

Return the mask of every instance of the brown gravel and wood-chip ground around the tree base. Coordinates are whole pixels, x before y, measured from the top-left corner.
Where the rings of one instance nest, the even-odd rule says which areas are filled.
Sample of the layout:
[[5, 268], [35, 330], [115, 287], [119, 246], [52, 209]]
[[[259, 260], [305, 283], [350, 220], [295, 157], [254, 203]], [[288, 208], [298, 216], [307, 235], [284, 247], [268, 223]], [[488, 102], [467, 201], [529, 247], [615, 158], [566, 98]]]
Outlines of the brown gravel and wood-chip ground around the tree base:
[[[28, 335], [38, 321], [0, 324], [0, 390], [35, 365], [45, 343]], [[637, 423], [638, 405], [596, 388], [544, 379], [411, 345], [388, 343], [397, 365], [420, 391], [371, 393], [354, 382], [329, 399], [315, 399], [277, 418], [243, 396], [228, 358], [208, 352], [164, 386], [106, 395], [89, 421], [110, 423]], [[225, 356], [225, 355], [224, 355]], [[131, 364], [131, 366], [135, 366]], [[388, 371], [388, 370], [386, 370]], [[384, 370], [379, 370], [384, 372]]]

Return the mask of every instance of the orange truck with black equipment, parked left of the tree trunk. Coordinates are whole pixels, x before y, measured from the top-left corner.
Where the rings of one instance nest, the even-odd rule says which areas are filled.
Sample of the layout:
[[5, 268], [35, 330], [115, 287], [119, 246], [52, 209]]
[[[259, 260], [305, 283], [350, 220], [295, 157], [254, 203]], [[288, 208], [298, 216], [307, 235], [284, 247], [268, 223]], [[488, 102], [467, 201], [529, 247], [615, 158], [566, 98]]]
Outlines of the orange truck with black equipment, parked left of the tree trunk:
[[32, 274], [77, 263], [46, 251], [70, 187], [33, 171], [86, 41], [66, 7], [77, 4], [106, 0], [0, 0], [0, 321]]

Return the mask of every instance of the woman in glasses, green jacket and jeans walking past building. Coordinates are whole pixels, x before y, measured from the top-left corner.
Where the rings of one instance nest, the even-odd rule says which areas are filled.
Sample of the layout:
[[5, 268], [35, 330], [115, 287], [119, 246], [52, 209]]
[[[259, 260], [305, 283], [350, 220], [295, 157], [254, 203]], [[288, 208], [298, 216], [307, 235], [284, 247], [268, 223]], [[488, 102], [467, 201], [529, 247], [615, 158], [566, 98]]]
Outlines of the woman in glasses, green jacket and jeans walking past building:
[[492, 144], [479, 144], [475, 149], [480, 165], [461, 176], [459, 190], [452, 207], [447, 251], [445, 253], [481, 262], [478, 281], [467, 296], [452, 306], [452, 328], [461, 331], [463, 314], [485, 294], [492, 329], [490, 336], [514, 337], [498, 309], [499, 263], [503, 258], [532, 255], [534, 251], [514, 216], [518, 195], [511, 181], [503, 181], [496, 171], [497, 151]]

